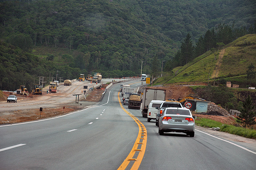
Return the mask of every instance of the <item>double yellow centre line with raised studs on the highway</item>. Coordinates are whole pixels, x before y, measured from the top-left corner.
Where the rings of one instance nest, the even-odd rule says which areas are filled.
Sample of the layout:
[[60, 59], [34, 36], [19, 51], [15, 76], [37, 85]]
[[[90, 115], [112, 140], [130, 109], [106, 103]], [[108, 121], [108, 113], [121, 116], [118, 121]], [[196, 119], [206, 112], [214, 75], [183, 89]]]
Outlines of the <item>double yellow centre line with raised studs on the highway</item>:
[[[142, 124], [142, 122], [139, 121], [139, 119], [137, 119], [135, 116], [133, 116], [131, 113], [129, 113], [127, 110], [125, 110], [125, 108], [123, 107], [123, 105], [121, 104], [120, 101], [120, 97], [119, 97], [120, 91], [118, 92], [118, 100], [119, 100], [119, 104], [121, 106], [121, 108], [129, 115], [131, 116], [131, 118], [133, 118], [133, 120], [137, 123], [137, 125], [139, 126], [139, 133], [137, 136], [137, 139], [133, 145], [133, 148], [131, 149], [131, 152], [129, 153], [129, 155], [127, 156], [127, 158], [124, 160], [124, 162], [121, 164], [121, 166], [119, 166], [119, 168], [117, 170], [125, 170], [125, 168], [128, 166], [128, 164], [131, 161], [135, 161], [133, 163], [133, 166], [131, 167], [131, 170], [137, 170], [139, 168], [139, 165], [142, 162], [144, 153], [146, 151], [146, 145], [147, 145], [147, 130], [146, 127], [144, 126], [144, 124]], [[143, 132], [142, 132], [143, 131]], [[143, 134], [142, 134], [143, 133]], [[138, 149], [139, 145], [141, 145], [141, 148]], [[139, 151], [139, 154], [137, 156], [137, 158], [133, 158], [134, 154], [136, 151]]]

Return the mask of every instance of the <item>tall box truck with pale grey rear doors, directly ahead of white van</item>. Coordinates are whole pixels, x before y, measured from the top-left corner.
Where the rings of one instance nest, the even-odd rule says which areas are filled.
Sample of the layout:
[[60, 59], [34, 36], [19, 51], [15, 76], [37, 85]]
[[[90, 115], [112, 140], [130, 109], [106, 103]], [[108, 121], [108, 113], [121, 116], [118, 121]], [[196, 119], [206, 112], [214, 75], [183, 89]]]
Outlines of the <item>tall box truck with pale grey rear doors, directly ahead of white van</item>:
[[164, 89], [151, 89], [150, 87], [146, 87], [143, 91], [142, 96], [142, 117], [146, 118], [148, 115], [148, 106], [152, 100], [165, 100]]

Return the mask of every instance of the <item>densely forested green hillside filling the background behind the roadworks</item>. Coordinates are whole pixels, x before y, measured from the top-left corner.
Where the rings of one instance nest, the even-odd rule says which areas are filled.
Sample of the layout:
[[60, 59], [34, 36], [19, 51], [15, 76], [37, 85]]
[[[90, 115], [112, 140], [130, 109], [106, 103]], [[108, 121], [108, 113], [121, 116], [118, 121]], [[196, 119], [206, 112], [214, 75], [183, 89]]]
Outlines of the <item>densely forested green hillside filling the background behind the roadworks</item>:
[[[64, 79], [76, 78], [79, 70], [84, 74], [118, 70], [118, 76], [131, 70], [129, 74], [137, 75], [142, 60], [143, 72], [149, 74], [153, 58], [173, 58], [187, 33], [195, 45], [219, 23], [234, 31], [250, 30], [255, 16], [255, 3], [250, 0], [0, 0], [0, 41], [52, 64], [45, 67], [50, 70], [33, 75], [19, 68], [17, 73], [23, 75], [53, 75], [54, 64], [62, 66]], [[249, 33], [237, 30], [234, 38]], [[10, 57], [1, 58], [2, 63], [13, 62], [6, 58]], [[6, 70], [9, 66], [2, 64]], [[65, 70], [76, 71], [66, 74]], [[3, 80], [11, 82], [0, 77], [0, 83]]]

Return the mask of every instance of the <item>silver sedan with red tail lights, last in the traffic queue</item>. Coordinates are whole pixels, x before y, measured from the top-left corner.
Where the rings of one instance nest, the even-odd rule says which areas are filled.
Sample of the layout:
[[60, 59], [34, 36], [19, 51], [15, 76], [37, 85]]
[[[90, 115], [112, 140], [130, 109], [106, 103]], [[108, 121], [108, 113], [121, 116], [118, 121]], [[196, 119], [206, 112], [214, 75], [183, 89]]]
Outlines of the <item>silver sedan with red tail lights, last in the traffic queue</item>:
[[159, 118], [159, 135], [164, 132], [182, 132], [190, 137], [195, 136], [195, 120], [187, 108], [165, 108], [163, 114], [158, 114]]

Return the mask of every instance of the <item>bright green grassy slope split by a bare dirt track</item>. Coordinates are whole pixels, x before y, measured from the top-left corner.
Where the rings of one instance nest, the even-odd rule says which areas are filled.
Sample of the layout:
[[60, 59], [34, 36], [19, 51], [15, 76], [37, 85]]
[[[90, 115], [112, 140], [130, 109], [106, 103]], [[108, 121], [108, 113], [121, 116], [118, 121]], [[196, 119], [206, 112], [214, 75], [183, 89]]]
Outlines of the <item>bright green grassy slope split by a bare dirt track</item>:
[[[249, 34], [240, 37], [225, 46], [225, 54], [219, 70], [219, 78], [224, 77], [227, 81], [236, 83], [248, 83], [245, 79], [248, 65], [252, 62], [256, 65], [256, 34]], [[173, 74], [164, 74], [167, 77], [157, 79], [154, 84], [208, 81], [212, 75], [217, 60], [210, 51], [204, 53], [187, 63], [183, 67], [173, 69]], [[240, 75], [240, 76], [237, 76]], [[242, 75], [242, 76], [241, 76]], [[169, 80], [169, 81], [168, 81]], [[210, 81], [213, 79], [210, 78]], [[256, 79], [252, 80], [256, 82]]]

